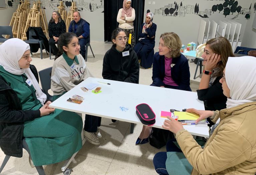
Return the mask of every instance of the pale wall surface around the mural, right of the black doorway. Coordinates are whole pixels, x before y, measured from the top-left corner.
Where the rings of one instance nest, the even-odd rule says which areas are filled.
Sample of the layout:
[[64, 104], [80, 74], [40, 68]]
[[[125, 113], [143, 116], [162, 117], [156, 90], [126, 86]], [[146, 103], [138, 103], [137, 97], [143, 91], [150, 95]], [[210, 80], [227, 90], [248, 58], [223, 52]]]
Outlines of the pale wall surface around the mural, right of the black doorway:
[[[153, 5], [153, 1], [155, 2], [155, 5]], [[245, 11], [249, 11], [249, 7], [251, 4], [251, 0], [237, 0], [238, 1], [238, 6], [242, 6]], [[149, 2], [151, 4], [149, 4]], [[160, 9], [164, 8], [165, 6], [169, 4], [174, 4], [175, 0], [145, 0], [145, 15], [146, 11], [149, 9], [151, 12], [155, 13], [155, 9]], [[177, 1], [178, 3], [181, 3], [181, 1]], [[212, 10], [212, 6], [216, 4], [223, 4], [225, 1], [221, 0], [183, 0], [182, 1], [182, 6], [187, 6], [187, 5], [193, 5], [195, 7], [196, 3], [199, 4], [199, 11], [205, 11], [205, 9], [210, 9]], [[178, 4], [179, 5], [179, 4]], [[251, 15], [254, 12], [253, 5], [251, 7]], [[180, 5], [179, 5], [180, 6]], [[229, 7], [229, 6], [228, 6]], [[135, 9], [136, 10], [136, 9]], [[186, 10], [185, 10], [186, 11]], [[253, 19], [250, 18], [247, 20], [245, 18], [245, 15], [239, 14], [237, 18], [232, 19], [236, 17], [238, 13], [235, 12], [233, 15], [227, 15], [226, 17], [223, 15], [223, 10], [219, 13], [217, 10], [216, 12], [211, 12], [211, 15], [208, 15], [210, 21], [214, 20], [215, 22], [221, 21], [228, 21], [228, 20], [233, 20], [236, 22], [239, 22], [242, 24], [241, 28], [241, 34], [240, 34], [240, 39], [243, 40], [243, 36], [245, 33], [246, 25], [247, 22], [252, 22]], [[156, 46], [155, 48], [158, 47], [159, 43], [159, 37], [162, 33], [164, 32], [175, 32], [179, 35], [179, 37], [182, 40], [182, 43], [186, 46], [187, 43], [189, 42], [195, 42], [197, 43], [198, 39], [198, 32], [199, 32], [199, 25], [201, 18], [199, 15], [194, 13], [194, 8], [192, 10], [192, 13], [186, 13], [184, 16], [163, 16], [160, 14], [155, 14], [153, 22], [157, 24], [157, 32], [156, 32]]]

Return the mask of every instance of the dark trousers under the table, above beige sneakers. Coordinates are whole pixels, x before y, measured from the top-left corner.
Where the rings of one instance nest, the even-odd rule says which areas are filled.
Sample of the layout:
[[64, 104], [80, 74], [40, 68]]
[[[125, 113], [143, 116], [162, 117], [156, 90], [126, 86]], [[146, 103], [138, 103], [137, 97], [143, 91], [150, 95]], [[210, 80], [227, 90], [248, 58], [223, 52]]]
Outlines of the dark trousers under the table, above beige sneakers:
[[84, 130], [87, 132], [96, 132], [100, 126], [101, 117], [85, 114]]

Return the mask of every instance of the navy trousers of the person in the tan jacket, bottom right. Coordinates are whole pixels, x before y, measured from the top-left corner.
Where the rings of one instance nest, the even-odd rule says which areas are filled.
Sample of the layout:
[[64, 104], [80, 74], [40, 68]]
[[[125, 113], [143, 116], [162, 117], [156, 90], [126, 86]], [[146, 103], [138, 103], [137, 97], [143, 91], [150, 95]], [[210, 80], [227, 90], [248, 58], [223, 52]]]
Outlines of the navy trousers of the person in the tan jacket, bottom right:
[[[173, 142], [176, 139], [169, 140], [166, 144], [166, 151], [167, 152], [182, 152]], [[156, 169], [156, 172], [160, 175], [169, 175], [166, 170], [165, 162], [167, 160], [167, 153], [166, 152], [158, 152], [154, 158], [153, 163]]]

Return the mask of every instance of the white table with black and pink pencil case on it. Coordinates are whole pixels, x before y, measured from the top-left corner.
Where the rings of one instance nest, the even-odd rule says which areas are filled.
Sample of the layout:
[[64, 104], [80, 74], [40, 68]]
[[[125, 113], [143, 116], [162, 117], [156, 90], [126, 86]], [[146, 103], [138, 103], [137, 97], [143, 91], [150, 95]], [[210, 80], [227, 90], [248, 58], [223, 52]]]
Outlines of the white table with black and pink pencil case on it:
[[[109, 83], [110, 85], [99, 83]], [[101, 92], [94, 94], [91, 91], [84, 92], [81, 87], [86, 87], [90, 83], [97, 83], [101, 87]], [[81, 104], [67, 102], [67, 99], [73, 95], [79, 95], [84, 98]], [[176, 90], [169, 88], [160, 88], [140, 84], [132, 84], [98, 78], [87, 78], [76, 87], [63, 94], [49, 106], [77, 112], [80, 114], [90, 114], [104, 118], [111, 118], [120, 121], [142, 124], [136, 115], [136, 106], [140, 103], [147, 103], [156, 114], [156, 123], [152, 127], [162, 128], [166, 118], [161, 117], [161, 111], [170, 111], [176, 109], [182, 111], [184, 108], [196, 108], [204, 110], [204, 103], [197, 97], [196, 92]], [[192, 135], [209, 137], [207, 125], [184, 125]], [[81, 134], [83, 143], [83, 133]], [[75, 154], [72, 156], [72, 158]], [[67, 165], [62, 167], [65, 171]]]

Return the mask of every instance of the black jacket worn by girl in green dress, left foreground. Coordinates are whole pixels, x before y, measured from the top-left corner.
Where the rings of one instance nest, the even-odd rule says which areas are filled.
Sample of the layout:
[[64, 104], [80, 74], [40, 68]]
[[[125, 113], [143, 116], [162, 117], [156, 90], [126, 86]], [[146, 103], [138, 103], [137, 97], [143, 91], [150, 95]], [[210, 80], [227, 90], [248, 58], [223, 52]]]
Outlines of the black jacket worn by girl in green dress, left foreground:
[[22, 157], [24, 122], [40, 117], [40, 110], [21, 110], [16, 92], [0, 76], [0, 147], [4, 154]]

